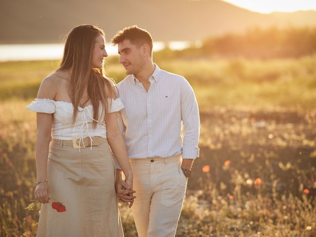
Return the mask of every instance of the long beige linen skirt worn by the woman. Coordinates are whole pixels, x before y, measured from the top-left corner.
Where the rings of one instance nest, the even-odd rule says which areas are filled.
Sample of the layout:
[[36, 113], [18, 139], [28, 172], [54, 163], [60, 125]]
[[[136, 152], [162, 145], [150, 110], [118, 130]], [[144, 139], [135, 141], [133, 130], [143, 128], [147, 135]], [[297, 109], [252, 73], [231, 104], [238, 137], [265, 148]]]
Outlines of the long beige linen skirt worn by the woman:
[[115, 161], [107, 142], [78, 149], [49, 144], [49, 203], [38, 237], [123, 237], [115, 192]]

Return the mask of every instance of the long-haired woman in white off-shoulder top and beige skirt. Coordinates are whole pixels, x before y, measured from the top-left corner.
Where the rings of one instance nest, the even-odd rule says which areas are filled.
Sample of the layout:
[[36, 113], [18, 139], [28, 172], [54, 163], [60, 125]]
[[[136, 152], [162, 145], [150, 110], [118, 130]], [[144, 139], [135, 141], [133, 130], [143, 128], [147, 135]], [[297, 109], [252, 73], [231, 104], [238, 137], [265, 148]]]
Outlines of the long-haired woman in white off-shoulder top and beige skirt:
[[27, 107], [37, 112], [38, 237], [123, 236], [109, 145], [130, 190], [133, 174], [116, 118], [124, 106], [104, 76], [107, 56], [102, 30], [75, 27], [60, 67]]

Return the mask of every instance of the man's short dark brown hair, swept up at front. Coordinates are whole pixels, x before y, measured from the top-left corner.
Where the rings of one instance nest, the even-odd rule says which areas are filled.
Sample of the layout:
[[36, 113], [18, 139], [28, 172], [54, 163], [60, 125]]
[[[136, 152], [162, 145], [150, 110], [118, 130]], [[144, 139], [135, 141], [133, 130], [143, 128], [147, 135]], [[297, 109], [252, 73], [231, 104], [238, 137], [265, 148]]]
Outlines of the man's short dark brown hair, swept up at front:
[[147, 43], [150, 48], [150, 53], [153, 52], [153, 38], [148, 31], [137, 27], [136, 25], [125, 27], [123, 30], [119, 31], [111, 42], [116, 45], [123, 40], [129, 40], [132, 44], [138, 47]]

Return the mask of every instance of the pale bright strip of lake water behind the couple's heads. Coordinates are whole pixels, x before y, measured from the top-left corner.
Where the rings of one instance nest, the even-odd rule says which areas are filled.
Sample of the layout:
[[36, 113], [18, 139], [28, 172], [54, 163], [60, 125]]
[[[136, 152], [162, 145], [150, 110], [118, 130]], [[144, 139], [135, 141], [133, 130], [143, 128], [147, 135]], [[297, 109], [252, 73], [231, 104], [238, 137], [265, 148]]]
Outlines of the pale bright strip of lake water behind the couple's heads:
[[[165, 47], [163, 42], [154, 42], [153, 51]], [[190, 46], [187, 41], [171, 41], [168, 47], [173, 50], [181, 50]], [[63, 55], [64, 44], [0, 44], [0, 62], [5, 61], [28, 61], [60, 59]], [[108, 55], [117, 55], [118, 47], [111, 43], [106, 44]]]

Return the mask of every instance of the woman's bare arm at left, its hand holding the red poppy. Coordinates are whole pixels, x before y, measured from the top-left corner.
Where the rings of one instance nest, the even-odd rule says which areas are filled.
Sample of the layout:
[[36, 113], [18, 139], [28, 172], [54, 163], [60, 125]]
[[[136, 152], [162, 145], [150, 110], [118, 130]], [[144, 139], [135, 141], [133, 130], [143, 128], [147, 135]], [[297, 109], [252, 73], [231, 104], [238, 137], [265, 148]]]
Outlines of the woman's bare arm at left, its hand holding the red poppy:
[[[56, 86], [54, 79], [45, 78], [40, 84], [37, 98], [55, 99]], [[51, 136], [52, 114], [37, 113], [37, 139], [36, 139], [36, 176], [37, 182], [47, 180], [47, 159], [48, 147]], [[49, 185], [48, 182], [40, 182], [34, 191], [35, 197], [41, 203], [49, 202]]]

